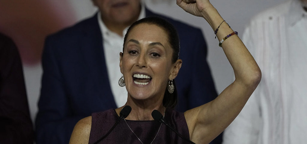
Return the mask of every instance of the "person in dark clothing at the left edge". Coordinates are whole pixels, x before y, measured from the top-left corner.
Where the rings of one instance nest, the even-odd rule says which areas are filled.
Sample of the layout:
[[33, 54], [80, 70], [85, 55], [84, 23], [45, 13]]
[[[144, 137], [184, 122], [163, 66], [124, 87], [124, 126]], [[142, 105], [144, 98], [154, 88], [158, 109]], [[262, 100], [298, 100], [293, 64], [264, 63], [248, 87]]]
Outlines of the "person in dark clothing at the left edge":
[[0, 33], [0, 143], [33, 143], [22, 65], [14, 42]]

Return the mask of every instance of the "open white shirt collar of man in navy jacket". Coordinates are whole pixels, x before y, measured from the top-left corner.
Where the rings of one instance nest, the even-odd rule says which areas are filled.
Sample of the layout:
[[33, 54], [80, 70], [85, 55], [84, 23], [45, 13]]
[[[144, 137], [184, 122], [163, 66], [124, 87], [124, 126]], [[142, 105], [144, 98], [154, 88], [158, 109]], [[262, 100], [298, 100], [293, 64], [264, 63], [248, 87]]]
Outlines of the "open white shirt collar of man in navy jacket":
[[[138, 20], [140, 20], [142, 18], [145, 18], [145, 16], [146, 16], [146, 14], [145, 14], [145, 5], [141, 3], [141, 12], [140, 12], [140, 14], [138, 16]], [[114, 33], [111, 30], [109, 30], [107, 28], [107, 26], [103, 23], [103, 21], [101, 19], [101, 12], [100, 11], [98, 12], [97, 17], [98, 17], [99, 28], [100, 28], [100, 31], [101, 31], [102, 35], [106, 36], [106, 35], [108, 35], [108, 33]], [[122, 34], [123, 36], [126, 34], [128, 28], [129, 28], [129, 26], [126, 27], [126, 29], [124, 29], [123, 34]], [[116, 34], [116, 33], [114, 33], [114, 34]]]

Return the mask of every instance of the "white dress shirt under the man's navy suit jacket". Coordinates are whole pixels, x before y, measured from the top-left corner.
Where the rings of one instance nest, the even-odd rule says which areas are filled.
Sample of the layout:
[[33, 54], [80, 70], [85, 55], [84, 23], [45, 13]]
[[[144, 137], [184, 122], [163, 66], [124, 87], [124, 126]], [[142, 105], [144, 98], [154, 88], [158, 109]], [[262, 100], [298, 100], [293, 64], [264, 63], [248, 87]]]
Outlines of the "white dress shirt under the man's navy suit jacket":
[[[109, 30], [104, 25], [100, 12], [97, 14], [98, 23], [103, 38], [103, 50], [107, 65], [107, 72], [109, 76], [109, 82], [111, 85], [111, 91], [114, 95], [115, 103], [117, 107], [123, 106], [127, 101], [128, 92], [126, 87], [120, 87], [118, 84], [119, 78], [122, 76], [119, 68], [119, 53], [122, 52], [124, 36], [128, 27], [122, 32], [123, 36]], [[145, 18], [145, 6], [141, 6], [141, 12], [139, 19]]]

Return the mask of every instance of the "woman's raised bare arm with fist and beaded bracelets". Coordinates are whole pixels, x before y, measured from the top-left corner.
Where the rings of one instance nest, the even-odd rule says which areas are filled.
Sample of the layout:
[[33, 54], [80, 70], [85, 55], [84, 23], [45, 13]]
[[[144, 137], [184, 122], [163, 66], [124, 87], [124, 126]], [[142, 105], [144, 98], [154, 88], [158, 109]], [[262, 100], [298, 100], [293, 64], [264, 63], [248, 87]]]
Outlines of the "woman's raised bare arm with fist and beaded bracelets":
[[242, 110], [261, 80], [261, 71], [243, 42], [208, 0], [177, 0], [177, 5], [203, 17], [214, 31], [220, 25], [216, 35], [235, 73], [235, 81], [215, 100], [185, 112], [190, 139], [195, 143], [209, 143]]

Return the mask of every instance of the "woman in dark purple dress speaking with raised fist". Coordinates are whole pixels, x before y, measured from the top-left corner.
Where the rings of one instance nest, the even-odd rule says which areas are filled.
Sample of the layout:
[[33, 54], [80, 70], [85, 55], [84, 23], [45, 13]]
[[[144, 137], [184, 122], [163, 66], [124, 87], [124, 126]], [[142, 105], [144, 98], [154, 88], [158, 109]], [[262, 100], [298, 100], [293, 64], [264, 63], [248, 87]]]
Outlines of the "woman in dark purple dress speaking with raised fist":
[[[123, 52], [120, 53], [123, 76], [119, 85], [126, 86], [128, 91], [125, 106], [131, 107], [130, 114], [122, 114], [125, 106], [125, 109], [119, 107], [93, 113], [76, 124], [69, 143], [190, 143], [185, 139], [197, 144], [209, 143], [239, 114], [260, 82], [261, 71], [257, 63], [237, 32], [208, 0], [177, 0], [177, 5], [209, 23], [234, 70], [235, 81], [209, 103], [184, 113], [174, 111], [177, 103], [174, 79], [182, 64], [178, 59], [177, 32], [163, 19], [141, 19], [127, 30]], [[183, 138], [153, 120], [151, 114], [154, 110], [161, 113], [160, 121], [165, 121]], [[122, 118], [125, 119], [120, 120]]]

